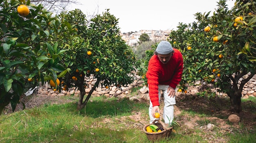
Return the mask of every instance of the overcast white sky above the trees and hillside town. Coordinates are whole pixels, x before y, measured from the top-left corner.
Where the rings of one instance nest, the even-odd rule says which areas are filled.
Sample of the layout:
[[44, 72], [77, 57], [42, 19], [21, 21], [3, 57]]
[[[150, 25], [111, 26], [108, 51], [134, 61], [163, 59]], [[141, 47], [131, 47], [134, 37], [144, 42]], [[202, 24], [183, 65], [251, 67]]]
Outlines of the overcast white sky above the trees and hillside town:
[[[217, 8], [219, 0], [78, 0], [70, 10], [81, 9], [85, 15], [99, 9], [102, 14], [110, 9], [110, 14], [119, 18], [121, 32], [139, 30], [172, 30], [179, 22], [192, 23], [197, 12], [209, 12]], [[229, 8], [235, 0], [227, 0]]]

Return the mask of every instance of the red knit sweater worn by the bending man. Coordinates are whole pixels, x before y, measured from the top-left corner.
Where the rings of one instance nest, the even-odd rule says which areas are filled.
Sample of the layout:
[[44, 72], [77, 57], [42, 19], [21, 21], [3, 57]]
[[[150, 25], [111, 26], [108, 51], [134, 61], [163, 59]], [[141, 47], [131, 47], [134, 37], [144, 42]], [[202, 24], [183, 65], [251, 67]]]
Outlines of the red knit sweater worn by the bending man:
[[153, 106], [159, 106], [158, 85], [169, 85], [174, 89], [180, 83], [183, 72], [183, 58], [179, 50], [174, 49], [173, 56], [168, 63], [163, 64], [157, 55], [153, 55], [148, 62], [149, 97]]

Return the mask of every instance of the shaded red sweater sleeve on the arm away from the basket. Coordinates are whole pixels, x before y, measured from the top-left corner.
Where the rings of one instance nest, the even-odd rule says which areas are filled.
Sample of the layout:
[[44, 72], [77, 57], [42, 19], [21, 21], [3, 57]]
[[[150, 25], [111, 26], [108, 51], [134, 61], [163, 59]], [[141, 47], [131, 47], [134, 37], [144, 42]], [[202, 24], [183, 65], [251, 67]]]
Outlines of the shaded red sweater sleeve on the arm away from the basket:
[[175, 72], [173, 73], [173, 78], [169, 84], [170, 87], [176, 88], [177, 85], [180, 83], [180, 80], [182, 78], [182, 72], [183, 72], [183, 58], [182, 54], [179, 52], [179, 56], [177, 58], [177, 67], [175, 69]]

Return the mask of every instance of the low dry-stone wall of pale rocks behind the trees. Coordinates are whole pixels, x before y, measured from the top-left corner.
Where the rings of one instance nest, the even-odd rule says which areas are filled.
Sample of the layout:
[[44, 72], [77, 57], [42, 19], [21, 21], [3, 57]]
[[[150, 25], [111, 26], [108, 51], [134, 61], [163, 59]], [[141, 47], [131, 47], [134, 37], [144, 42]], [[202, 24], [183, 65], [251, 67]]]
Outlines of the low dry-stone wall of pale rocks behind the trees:
[[[244, 78], [247, 78], [249, 75], [243, 76], [243, 78], [240, 78], [240, 81]], [[127, 87], [116, 87], [116, 86], [109, 86], [108, 89], [105, 87], [97, 87], [95, 91], [93, 91], [92, 95], [99, 96], [99, 95], [105, 95], [107, 97], [112, 97], [114, 95], [119, 94], [129, 94], [132, 87], [141, 87], [140, 91], [142, 94], [147, 93], [148, 89], [147, 87], [143, 86], [143, 81], [140, 80], [141, 78], [139, 76], [136, 77], [138, 80], [135, 80], [132, 84], [127, 85]], [[88, 87], [85, 88], [85, 92], [88, 94], [90, 89], [94, 86], [96, 79], [93, 79], [93, 75], [89, 78], [86, 78], [86, 81], [88, 83]], [[214, 90], [213, 90], [214, 91]], [[216, 91], [216, 89], [215, 89]], [[189, 88], [188, 93], [194, 94], [197, 93], [197, 88]], [[48, 95], [48, 96], [64, 96], [64, 95], [75, 95], [78, 96], [80, 91], [75, 88], [69, 88], [68, 91], [61, 91], [59, 93], [58, 91], [53, 91], [49, 84], [46, 82], [43, 86], [39, 87], [38, 94], [40, 95]], [[222, 93], [217, 93], [218, 95], [225, 95]], [[242, 98], [249, 98], [249, 96], [256, 97], [256, 75], [252, 79], [250, 79], [244, 86], [242, 91]]]

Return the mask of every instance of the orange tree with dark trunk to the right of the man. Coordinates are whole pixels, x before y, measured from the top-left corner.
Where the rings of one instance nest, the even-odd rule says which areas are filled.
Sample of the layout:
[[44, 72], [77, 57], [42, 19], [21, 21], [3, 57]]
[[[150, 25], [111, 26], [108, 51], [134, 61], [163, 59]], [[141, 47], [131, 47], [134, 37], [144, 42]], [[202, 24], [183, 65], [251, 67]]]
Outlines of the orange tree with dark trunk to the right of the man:
[[[180, 24], [171, 32], [171, 41], [184, 56], [182, 89], [197, 80], [212, 84], [227, 93], [234, 111], [242, 111], [243, 87], [256, 71], [255, 6], [254, 0], [236, 0], [229, 10], [226, 0], [220, 0], [213, 16], [196, 13], [197, 22]], [[207, 26], [210, 30], [204, 30]]]

